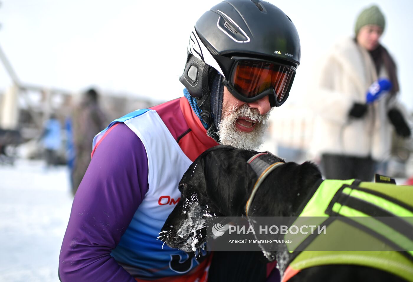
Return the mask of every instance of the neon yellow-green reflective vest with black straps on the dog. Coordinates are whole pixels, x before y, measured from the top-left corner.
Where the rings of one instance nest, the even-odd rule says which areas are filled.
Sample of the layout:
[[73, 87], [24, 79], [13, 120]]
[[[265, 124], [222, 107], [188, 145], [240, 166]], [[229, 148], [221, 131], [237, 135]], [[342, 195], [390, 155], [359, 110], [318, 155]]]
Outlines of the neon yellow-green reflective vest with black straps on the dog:
[[[351, 229], [349, 228], [347, 232], [350, 234], [355, 234], [351, 233], [355, 232], [351, 231], [353, 228], [361, 230], [358, 226], [362, 226], [365, 227], [363, 230], [368, 230], [368, 232], [363, 231], [365, 233], [363, 238], [370, 237], [380, 246], [397, 245], [397, 248], [405, 249], [405, 251], [387, 251], [385, 249], [377, 251], [314, 251], [316, 244], [319, 244], [316, 242], [317, 235], [314, 235], [310, 241], [307, 240], [304, 251], [294, 251], [303, 249], [304, 245], [299, 246], [300, 242], [304, 242], [304, 238], [301, 238], [295, 240], [294, 244], [287, 244], [290, 254], [294, 256], [294, 252], [296, 256], [292, 258], [289, 267], [285, 270], [282, 282], [286, 282], [305, 268], [329, 264], [373, 267], [413, 281], [413, 235], [411, 232], [406, 233], [406, 230], [399, 230], [400, 224], [392, 224], [392, 222], [405, 220], [403, 226], [407, 228], [408, 225], [411, 225], [412, 227], [407, 228], [407, 230], [413, 230], [413, 221], [410, 220], [413, 216], [413, 193], [411, 192], [413, 187], [351, 182], [352, 180], [324, 180], [306, 204], [299, 218], [305, 220], [309, 217], [339, 216], [342, 220], [348, 219], [346, 223]], [[369, 220], [365, 218], [363, 221], [357, 222], [358, 217], [366, 216]], [[393, 221], [380, 221], [381, 217], [385, 219], [389, 216], [393, 218]], [[351, 224], [352, 221], [354, 221], [354, 225]], [[374, 224], [370, 225], [370, 221], [374, 221]], [[337, 225], [335, 226], [337, 227]], [[328, 228], [329, 226], [327, 232], [329, 232]], [[334, 244], [328, 239], [323, 239], [322, 243]]]

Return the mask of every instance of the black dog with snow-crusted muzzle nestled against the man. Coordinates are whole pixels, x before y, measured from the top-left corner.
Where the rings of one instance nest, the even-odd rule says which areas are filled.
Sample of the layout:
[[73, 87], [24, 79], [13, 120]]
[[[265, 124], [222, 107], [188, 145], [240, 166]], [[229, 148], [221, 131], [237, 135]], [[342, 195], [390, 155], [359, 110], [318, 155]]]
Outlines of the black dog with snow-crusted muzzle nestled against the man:
[[[213, 147], [201, 154], [188, 168], [179, 184], [181, 198], [160, 233], [159, 239], [172, 248], [192, 252], [207, 241], [204, 228], [209, 216], [298, 216], [302, 203], [318, 186], [321, 173], [315, 164], [288, 162], [275, 168], [261, 183], [253, 199], [258, 176], [247, 163], [258, 152], [230, 146]], [[284, 161], [273, 156], [273, 161]], [[267, 254], [266, 254], [267, 253]], [[264, 252], [271, 261], [275, 257]], [[287, 265], [277, 252], [279, 268]], [[281, 264], [281, 265], [280, 265]], [[406, 281], [376, 268], [359, 265], [323, 265], [306, 268], [294, 281]]]

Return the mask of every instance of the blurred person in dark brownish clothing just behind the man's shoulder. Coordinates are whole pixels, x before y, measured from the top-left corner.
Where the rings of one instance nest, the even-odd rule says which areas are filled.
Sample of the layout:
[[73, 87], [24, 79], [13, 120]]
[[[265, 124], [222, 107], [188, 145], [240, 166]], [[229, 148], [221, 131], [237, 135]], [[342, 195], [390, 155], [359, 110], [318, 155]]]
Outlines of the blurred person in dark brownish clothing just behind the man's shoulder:
[[93, 137], [106, 127], [107, 119], [99, 105], [97, 91], [90, 88], [83, 93], [81, 102], [75, 107], [72, 115], [74, 143], [74, 162], [72, 176], [72, 192], [76, 190], [85, 175], [90, 162]]

